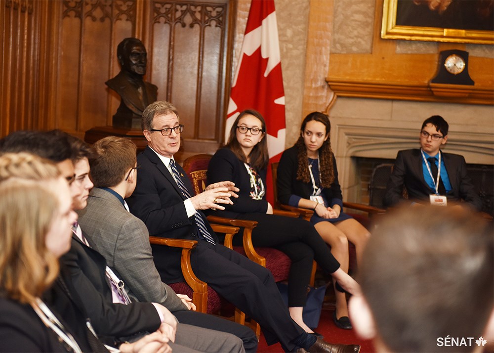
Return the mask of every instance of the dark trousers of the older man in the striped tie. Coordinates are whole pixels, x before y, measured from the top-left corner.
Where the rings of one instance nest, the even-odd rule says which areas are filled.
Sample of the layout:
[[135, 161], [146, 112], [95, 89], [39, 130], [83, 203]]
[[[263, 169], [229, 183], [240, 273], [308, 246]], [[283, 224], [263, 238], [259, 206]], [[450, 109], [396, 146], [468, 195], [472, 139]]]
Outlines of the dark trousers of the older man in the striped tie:
[[296, 348], [290, 341], [305, 331], [291, 319], [269, 270], [204, 240], [192, 251], [191, 263], [199, 279], [259, 323], [268, 345], [280, 342], [287, 352]]

